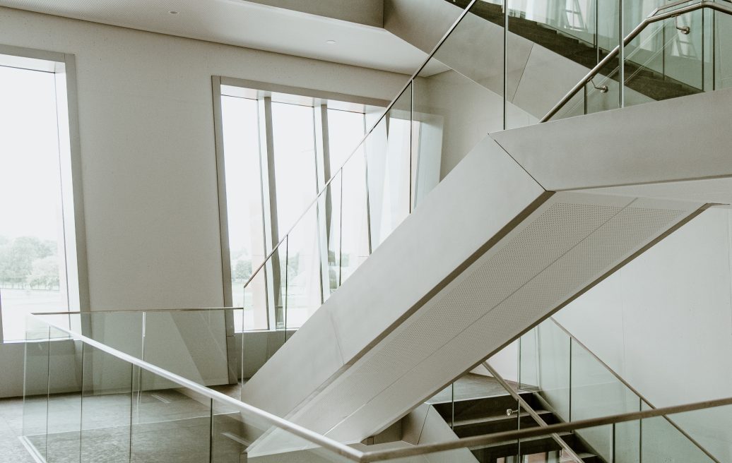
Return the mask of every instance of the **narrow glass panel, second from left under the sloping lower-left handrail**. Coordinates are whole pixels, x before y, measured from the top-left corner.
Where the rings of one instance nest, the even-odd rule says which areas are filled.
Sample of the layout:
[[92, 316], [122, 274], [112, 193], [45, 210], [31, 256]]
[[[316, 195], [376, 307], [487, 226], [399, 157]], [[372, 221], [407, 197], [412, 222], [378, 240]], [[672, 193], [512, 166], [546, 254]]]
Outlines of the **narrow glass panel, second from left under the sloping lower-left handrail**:
[[51, 326], [48, 344], [48, 463], [78, 462], [81, 451], [81, 342]]

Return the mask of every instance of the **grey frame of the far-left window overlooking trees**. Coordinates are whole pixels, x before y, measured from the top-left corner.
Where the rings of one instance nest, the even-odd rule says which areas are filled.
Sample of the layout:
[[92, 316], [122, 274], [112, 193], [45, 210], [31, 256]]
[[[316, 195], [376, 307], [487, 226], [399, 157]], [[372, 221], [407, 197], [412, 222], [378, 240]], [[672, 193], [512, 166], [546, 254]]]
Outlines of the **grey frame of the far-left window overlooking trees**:
[[[56, 118], [59, 124], [59, 167], [61, 169], [64, 252], [67, 253], [67, 263], [64, 270], [67, 271], [67, 274], [74, 274], [75, 276], [75, 281], [67, 280], [68, 311], [90, 312], [86, 222], [84, 220], [83, 187], [81, 183], [81, 138], [79, 135], [76, 57], [71, 53], [0, 44], [0, 66], [54, 74]], [[69, 205], [68, 201], [71, 201], [72, 204]], [[72, 217], [67, 216], [69, 212], [72, 213]], [[73, 219], [73, 225], [67, 227], [70, 218]], [[72, 254], [70, 254], [70, 244], [73, 244], [75, 251]], [[75, 266], [70, 262], [72, 261], [70, 257], [75, 260]], [[77, 295], [78, 306], [75, 306], [75, 296]], [[0, 344], [26, 342], [23, 339], [5, 340], [2, 319], [2, 301], [0, 301]]]

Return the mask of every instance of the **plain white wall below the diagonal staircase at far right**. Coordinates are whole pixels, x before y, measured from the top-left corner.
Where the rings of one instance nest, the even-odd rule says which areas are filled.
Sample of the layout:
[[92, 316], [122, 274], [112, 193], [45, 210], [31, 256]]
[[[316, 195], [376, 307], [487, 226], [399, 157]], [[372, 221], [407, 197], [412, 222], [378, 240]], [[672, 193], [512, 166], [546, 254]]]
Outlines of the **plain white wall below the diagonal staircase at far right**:
[[[556, 319], [656, 407], [732, 396], [731, 221], [704, 212]], [[732, 407], [673, 419], [732, 460]]]

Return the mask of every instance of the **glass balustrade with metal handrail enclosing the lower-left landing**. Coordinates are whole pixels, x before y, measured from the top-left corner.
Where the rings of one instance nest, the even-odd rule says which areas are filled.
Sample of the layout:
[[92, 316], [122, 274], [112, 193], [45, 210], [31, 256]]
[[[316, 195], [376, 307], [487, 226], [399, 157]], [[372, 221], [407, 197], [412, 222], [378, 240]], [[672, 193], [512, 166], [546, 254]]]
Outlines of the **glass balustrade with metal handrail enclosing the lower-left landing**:
[[[224, 326], [226, 312], [84, 314], [86, 322], [93, 319], [80, 325], [84, 336], [62, 328], [69, 316], [81, 314], [31, 316], [23, 403], [26, 446], [48, 463], [348, 461], [277, 426], [266, 413], [239, 406], [239, 385], [220, 377], [222, 372], [214, 370], [223, 367], [225, 374], [226, 364], [217, 365], [217, 358], [208, 355], [223, 346], [225, 333], [214, 334], [214, 328]], [[130, 331], [138, 320], [143, 320], [140, 331]], [[92, 325], [105, 327], [102, 336], [91, 332]], [[143, 339], [144, 349], [132, 354], [132, 348], [124, 352], [97, 340], [127, 347], [120, 341], [124, 336], [130, 345]], [[220, 345], [209, 344], [213, 337]], [[172, 344], [157, 344], [163, 340]]]

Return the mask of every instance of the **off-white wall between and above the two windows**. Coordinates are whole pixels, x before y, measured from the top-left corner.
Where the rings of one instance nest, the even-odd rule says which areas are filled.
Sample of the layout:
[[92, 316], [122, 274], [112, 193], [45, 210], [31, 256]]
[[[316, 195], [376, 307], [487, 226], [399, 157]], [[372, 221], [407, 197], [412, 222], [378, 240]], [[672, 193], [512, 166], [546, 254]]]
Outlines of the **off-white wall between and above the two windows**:
[[[73, 53], [92, 310], [223, 305], [212, 75], [392, 99], [406, 76], [0, 7], [0, 44]], [[0, 345], [0, 394], [22, 349]]]

